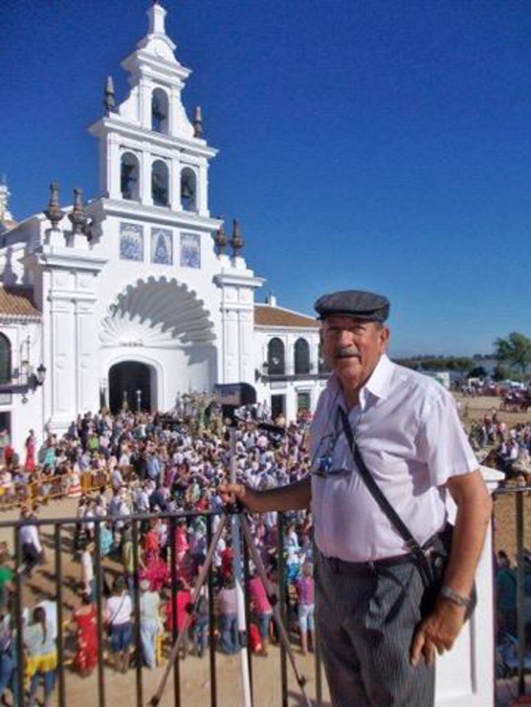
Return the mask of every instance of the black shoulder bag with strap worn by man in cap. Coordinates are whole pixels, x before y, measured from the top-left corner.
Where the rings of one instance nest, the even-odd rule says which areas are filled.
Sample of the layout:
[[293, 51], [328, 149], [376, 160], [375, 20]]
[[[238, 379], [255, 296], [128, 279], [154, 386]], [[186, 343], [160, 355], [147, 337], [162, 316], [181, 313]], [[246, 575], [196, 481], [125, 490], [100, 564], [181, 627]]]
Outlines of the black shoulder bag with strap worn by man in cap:
[[[347, 438], [348, 446], [350, 447], [350, 452], [352, 452], [356, 467], [358, 467], [358, 471], [360, 472], [360, 476], [362, 477], [365, 486], [367, 486], [367, 489], [370, 491], [372, 498], [375, 499], [379, 508], [392, 523], [396, 532], [398, 532], [402, 539], [404, 539], [406, 548], [409, 552], [411, 552], [413, 560], [415, 561], [421, 575], [424, 585], [424, 593], [421, 601], [421, 615], [424, 618], [433, 611], [440, 588], [442, 587], [447, 562], [450, 558], [450, 550], [452, 549], [452, 535], [454, 532], [454, 526], [447, 522], [445, 527], [437, 535], [435, 535], [435, 537], [428, 541], [427, 546], [423, 548], [418, 544], [416, 539], [411, 534], [409, 527], [407, 527], [398, 513], [396, 513], [396, 510], [394, 510], [391, 503], [387, 501], [382, 489], [380, 489], [377, 481], [375, 481], [375, 478], [367, 468], [367, 464], [365, 464], [365, 460], [361, 455], [360, 448], [355, 443], [354, 434], [352, 428], [350, 427], [348, 416], [341, 405], [338, 406], [338, 408], [339, 414], [341, 415], [341, 421], [343, 423], [343, 431]], [[477, 592], [476, 583], [474, 582], [472, 592], [470, 593], [470, 603], [465, 614], [465, 620], [469, 619], [472, 612], [476, 608], [476, 602]]]

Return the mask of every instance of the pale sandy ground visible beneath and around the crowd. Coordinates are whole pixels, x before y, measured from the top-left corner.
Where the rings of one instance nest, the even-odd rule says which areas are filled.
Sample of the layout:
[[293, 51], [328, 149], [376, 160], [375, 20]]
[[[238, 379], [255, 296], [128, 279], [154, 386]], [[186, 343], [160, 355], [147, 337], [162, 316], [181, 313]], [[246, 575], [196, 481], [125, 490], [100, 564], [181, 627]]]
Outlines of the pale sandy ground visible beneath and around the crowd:
[[[493, 397], [477, 397], [466, 398], [462, 400], [462, 409], [465, 409], [467, 415], [464, 418], [465, 424], [480, 419], [486, 412], [491, 411], [493, 407], [498, 407], [500, 399]], [[509, 425], [518, 422], [527, 421], [530, 419], [530, 414], [519, 413], [501, 413], [501, 419], [504, 419]], [[515, 501], [510, 496], [498, 498], [496, 501], [496, 548], [506, 549], [511, 554], [515, 549]], [[75, 515], [76, 501], [67, 499], [64, 501], [53, 501], [47, 506], [41, 506], [40, 518], [72, 518]], [[531, 512], [531, 496], [525, 498], [526, 515]], [[0, 515], [0, 521], [15, 520], [18, 518], [18, 511], [4, 511]], [[74, 591], [76, 582], [79, 581], [80, 568], [79, 563], [72, 560], [72, 528], [66, 528], [62, 535], [62, 564], [64, 582], [62, 585], [63, 605], [65, 618], [69, 617], [72, 609], [79, 603], [77, 593]], [[40, 566], [23, 587], [23, 605], [33, 606], [43, 595], [51, 595], [54, 588], [55, 580], [55, 551], [53, 544], [53, 527], [52, 525], [42, 528], [42, 538], [47, 548], [46, 563]], [[13, 548], [13, 531], [0, 527], [0, 539], [6, 539], [10, 548]], [[531, 547], [531, 523], [527, 523], [525, 528], [525, 542]], [[118, 566], [111, 561], [105, 561], [105, 571], [108, 575], [112, 575], [118, 571]], [[89, 706], [98, 703], [98, 680], [97, 671], [93, 672], [91, 677], [81, 679], [71, 667], [68, 665], [73, 653], [72, 638], [67, 636], [66, 639], [66, 655], [67, 665], [65, 667], [65, 690], [67, 705]], [[169, 647], [165, 648], [167, 654]], [[315, 681], [315, 663], [314, 655], [309, 654], [302, 656], [295, 647], [297, 655], [297, 665], [299, 670], [307, 677], [307, 693], [311, 698], [316, 693]], [[122, 705], [133, 707], [135, 705], [146, 704], [154, 694], [158, 685], [161, 674], [164, 670], [164, 665], [156, 670], [142, 670], [142, 691], [143, 701], [137, 701], [137, 685], [136, 672], [133, 668], [126, 675], [117, 674], [112, 667], [105, 661], [105, 703], [107, 705]], [[252, 659], [253, 672], [253, 693], [255, 697], [255, 707], [278, 707], [281, 703], [280, 689], [280, 651], [277, 647], [270, 648], [268, 658], [253, 657]], [[173, 690], [173, 677], [170, 678], [169, 684], [166, 687], [163, 698], [161, 699], [161, 707], [177, 706], [182, 707], [201, 707], [210, 705], [210, 661], [206, 655], [202, 659], [195, 658], [189, 655], [185, 660], [179, 661], [179, 674], [181, 683], [181, 702], [176, 699], [175, 691]], [[241, 699], [241, 666], [238, 656], [225, 656], [221, 653], [216, 653], [216, 674], [217, 674], [217, 704], [219, 707], [234, 707], [235, 704], [243, 703]], [[289, 705], [295, 707], [301, 704], [299, 700], [299, 689], [295, 682], [295, 677], [290, 666], [287, 668], [288, 675], [288, 691]], [[326, 686], [326, 679], [323, 676], [323, 694], [324, 707], [329, 707], [329, 696]], [[514, 685], [507, 681], [500, 685], [499, 702], [507, 704], [509, 696], [515, 694]], [[55, 691], [55, 700], [57, 703], [57, 690]]]

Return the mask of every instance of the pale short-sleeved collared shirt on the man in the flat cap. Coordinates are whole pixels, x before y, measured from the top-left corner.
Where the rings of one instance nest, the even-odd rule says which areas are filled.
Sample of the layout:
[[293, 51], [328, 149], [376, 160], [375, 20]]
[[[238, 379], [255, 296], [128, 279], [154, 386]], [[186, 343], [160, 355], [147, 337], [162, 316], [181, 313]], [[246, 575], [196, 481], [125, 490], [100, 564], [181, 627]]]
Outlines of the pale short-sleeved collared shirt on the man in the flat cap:
[[[406, 552], [404, 541], [367, 490], [342, 431], [346, 409], [332, 376], [321, 393], [311, 428], [312, 469], [330, 457], [326, 477], [312, 476], [312, 513], [319, 550], [346, 561], [374, 561]], [[446, 520], [445, 483], [473, 472], [478, 462], [455, 401], [433, 378], [382, 356], [348, 419], [365, 464], [417, 542]]]

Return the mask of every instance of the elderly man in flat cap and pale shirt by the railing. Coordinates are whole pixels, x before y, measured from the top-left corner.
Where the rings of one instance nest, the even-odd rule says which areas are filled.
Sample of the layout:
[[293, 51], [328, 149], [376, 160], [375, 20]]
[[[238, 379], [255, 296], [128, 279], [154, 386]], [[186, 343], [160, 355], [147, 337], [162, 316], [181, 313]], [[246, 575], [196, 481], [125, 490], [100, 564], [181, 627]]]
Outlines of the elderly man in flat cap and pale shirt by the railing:
[[[262, 513], [311, 503], [316, 624], [333, 706], [430, 707], [435, 655], [464, 622], [491, 499], [452, 397], [387, 358], [387, 298], [345, 291], [315, 308], [333, 375], [312, 421], [312, 474], [262, 492], [226, 484], [222, 493]], [[416, 559], [365, 484], [352, 440], [421, 546], [445, 527], [447, 492], [457, 504], [443, 589], [425, 617]]]

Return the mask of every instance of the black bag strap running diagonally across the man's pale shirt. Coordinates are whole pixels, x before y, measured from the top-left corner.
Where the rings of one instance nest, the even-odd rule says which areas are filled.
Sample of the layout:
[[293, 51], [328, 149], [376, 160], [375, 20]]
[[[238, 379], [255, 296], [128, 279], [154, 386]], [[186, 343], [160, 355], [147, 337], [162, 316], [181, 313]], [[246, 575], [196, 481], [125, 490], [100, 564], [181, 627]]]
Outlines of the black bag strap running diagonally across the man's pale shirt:
[[365, 486], [367, 486], [367, 489], [370, 491], [372, 498], [375, 499], [379, 508], [382, 510], [382, 513], [387, 516], [396, 532], [398, 532], [402, 539], [404, 539], [407, 549], [413, 555], [422, 573], [426, 576], [426, 581], [429, 583], [431, 581], [432, 571], [426, 554], [424, 554], [423, 549], [411, 534], [409, 527], [407, 527], [398, 513], [396, 513], [396, 510], [394, 510], [391, 503], [389, 503], [384, 492], [378, 486], [377, 481], [375, 481], [375, 477], [372, 476], [371, 472], [367, 468], [367, 464], [365, 464], [365, 460], [361, 455], [360, 448], [355, 443], [354, 434], [352, 428], [350, 427], [350, 422], [348, 421], [348, 415], [343, 410], [341, 405], [338, 405], [338, 409], [339, 414], [341, 415], [341, 421], [343, 423], [343, 431], [347, 438], [348, 446], [350, 447], [350, 452], [352, 452], [355, 464], [358, 467], [358, 471], [360, 472], [360, 476], [362, 477]]

